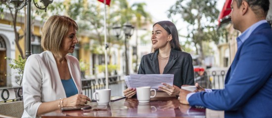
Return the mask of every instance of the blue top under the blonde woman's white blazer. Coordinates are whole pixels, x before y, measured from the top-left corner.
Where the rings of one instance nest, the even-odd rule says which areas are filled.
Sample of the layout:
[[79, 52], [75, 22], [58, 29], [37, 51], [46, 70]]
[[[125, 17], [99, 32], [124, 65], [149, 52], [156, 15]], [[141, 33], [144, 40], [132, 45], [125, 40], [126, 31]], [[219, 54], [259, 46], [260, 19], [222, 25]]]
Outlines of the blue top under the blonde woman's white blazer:
[[78, 94], [78, 89], [77, 89], [72, 78], [69, 80], [61, 80], [61, 83], [62, 83], [63, 88], [65, 90], [66, 97], [70, 97], [75, 94]]

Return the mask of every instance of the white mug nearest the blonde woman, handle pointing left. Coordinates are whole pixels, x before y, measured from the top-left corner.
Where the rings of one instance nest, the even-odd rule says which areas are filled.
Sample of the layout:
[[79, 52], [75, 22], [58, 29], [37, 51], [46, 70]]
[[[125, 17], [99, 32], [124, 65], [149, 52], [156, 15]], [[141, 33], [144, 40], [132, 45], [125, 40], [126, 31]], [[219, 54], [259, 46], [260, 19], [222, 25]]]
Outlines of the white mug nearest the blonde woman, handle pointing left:
[[93, 99], [98, 105], [107, 105], [110, 102], [110, 89], [96, 89], [93, 93]]

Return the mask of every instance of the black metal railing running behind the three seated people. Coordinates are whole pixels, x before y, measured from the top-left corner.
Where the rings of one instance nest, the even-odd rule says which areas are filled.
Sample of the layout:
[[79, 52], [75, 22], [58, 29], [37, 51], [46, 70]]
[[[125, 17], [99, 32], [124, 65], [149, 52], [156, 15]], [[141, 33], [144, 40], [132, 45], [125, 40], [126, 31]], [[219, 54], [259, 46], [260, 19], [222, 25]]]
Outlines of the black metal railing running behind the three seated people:
[[[224, 89], [227, 70], [207, 71], [204, 78], [207, 78], [207, 88]], [[202, 78], [201, 78], [202, 79]], [[123, 90], [126, 89], [126, 83], [120, 75], [109, 76], [109, 89], [111, 96], [123, 96]], [[210, 86], [208, 86], [210, 85]], [[202, 85], [200, 85], [202, 86]], [[105, 78], [82, 79], [83, 94], [93, 99], [95, 89], [105, 89]], [[20, 101], [23, 99], [22, 87], [0, 88], [0, 103], [7, 101]]]

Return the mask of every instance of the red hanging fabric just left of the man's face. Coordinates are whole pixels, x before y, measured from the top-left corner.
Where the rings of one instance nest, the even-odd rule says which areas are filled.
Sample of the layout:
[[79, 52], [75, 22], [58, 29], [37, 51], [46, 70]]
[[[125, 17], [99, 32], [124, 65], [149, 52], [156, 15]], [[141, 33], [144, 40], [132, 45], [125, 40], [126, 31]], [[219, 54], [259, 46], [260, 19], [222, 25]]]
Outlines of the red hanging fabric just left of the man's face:
[[226, 0], [224, 6], [222, 8], [222, 11], [220, 12], [219, 17], [218, 17], [218, 26], [220, 26], [220, 24], [224, 20], [227, 20], [227, 19], [230, 20], [228, 17], [229, 13], [231, 12], [230, 3], [231, 3], [231, 0]]

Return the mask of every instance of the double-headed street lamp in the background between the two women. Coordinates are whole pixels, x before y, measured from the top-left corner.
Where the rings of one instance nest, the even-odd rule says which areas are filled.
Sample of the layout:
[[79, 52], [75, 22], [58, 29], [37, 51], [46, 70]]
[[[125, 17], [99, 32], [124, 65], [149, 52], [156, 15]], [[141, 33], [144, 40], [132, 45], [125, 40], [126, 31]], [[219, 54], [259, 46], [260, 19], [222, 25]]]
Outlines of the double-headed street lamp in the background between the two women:
[[[119, 39], [119, 36], [121, 35], [122, 29], [121, 26], [113, 26], [113, 33]], [[130, 23], [125, 23], [123, 25], [123, 31], [125, 33], [125, 62], [126, 62], [126, 75], [129, 75], [129, 61], [128, 61], [128, 46], [127, 46], [127, 40], [133, 35], [134, 32], [134, 26], [132, 26]]]

